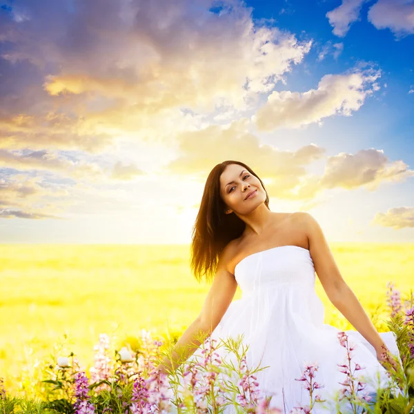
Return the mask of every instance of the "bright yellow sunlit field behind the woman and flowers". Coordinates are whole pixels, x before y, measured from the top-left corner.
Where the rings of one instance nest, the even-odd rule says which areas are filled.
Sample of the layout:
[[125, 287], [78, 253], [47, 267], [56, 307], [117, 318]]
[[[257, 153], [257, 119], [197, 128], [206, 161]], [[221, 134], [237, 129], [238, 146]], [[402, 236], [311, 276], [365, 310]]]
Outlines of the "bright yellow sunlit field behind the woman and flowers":
[[[414, 244], [331, 244], [341, 273], [368, 314], [385, 305], [386, 283], [414, 288]], [[208, 291], [190, 274], [188, 246], [0, 245], [0, 377], [6, 391], [28, 392], [39, 361], [63, 333], [88, 367], [99, 333], [118, 342], [141, 329], [184, 331]], [[352, 328], [317, 280], [325, 322]], [[239, 299], [237, 290], [235, 299]], [[383, 311], [386, 311], [383, 306]], [[384, 330], [380, 315], [375, 322]], [[385, 329], [386, 330], [386, 329]]]

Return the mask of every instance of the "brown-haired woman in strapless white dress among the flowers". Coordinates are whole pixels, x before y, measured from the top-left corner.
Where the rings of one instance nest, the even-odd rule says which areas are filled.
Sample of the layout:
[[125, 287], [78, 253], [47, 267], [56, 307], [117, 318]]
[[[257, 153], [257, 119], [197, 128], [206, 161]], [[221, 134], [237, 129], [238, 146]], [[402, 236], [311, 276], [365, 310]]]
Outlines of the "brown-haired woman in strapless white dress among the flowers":
[[[288, 413], [308, 402], [308, 393], [295, 381], [305, 361], [319, 364], [322, 398], [341, 388], [338, 382], [345, 377], [337, 364], [343, 364], [346, 350], [339, 330], [324, 324], [316, 271], [328, 298], [359, 331], [346, 331], [357, 345], [354, 362], [365, 367], [366, 375], [379, 372], [384, 385], [383, 359], [391, 357], [397, 368], [393, 333], [376, 331], [342, 278], [317, 221], [308, 213], [273, 213], [268, 201], [263, 181], [242, 162], [224, 161], [208, 175], [191, 266], [197, 279], [206, 275], [213, 283], [198, 317], [175, 345], [173, 361], [165, 358], [157, 369], [171, 373], [184, 363], [199, 348], [200, 331], [217, 339], [243, 334], [248, 364], [268, 366], [257, 373], [257, 381], [262, 392], [274, 395], [271, 406]], [[237, 285], [242, 299], [232, 302]]]

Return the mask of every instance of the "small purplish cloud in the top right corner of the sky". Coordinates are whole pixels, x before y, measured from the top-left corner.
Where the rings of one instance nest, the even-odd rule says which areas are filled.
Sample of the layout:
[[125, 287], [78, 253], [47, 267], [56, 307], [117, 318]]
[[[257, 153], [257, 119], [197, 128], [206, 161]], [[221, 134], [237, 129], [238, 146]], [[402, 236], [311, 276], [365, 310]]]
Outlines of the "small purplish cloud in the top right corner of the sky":
[[397, 37], [414, 33], [413, 0], [378, 0], [368, 10], [368, 21], [377, 29], [390, 29]]

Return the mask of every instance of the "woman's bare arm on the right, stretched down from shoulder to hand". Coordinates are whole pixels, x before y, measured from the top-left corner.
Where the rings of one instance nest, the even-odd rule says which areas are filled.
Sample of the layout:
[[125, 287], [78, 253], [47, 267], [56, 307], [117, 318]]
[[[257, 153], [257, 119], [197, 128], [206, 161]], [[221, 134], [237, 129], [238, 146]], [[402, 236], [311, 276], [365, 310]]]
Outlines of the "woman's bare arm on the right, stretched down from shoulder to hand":
[[382, 337], [375, 329], [362, 304], [344, 281], [331, 248], [318, 222], [309, 214], [302, 213], [303, 225], [308, 236], [309, 251], [315, 271], [329, 300], [348, 319], [359, 333], [375, 348], [378, 359], [383, 359], [384, 351], [389, 353]]

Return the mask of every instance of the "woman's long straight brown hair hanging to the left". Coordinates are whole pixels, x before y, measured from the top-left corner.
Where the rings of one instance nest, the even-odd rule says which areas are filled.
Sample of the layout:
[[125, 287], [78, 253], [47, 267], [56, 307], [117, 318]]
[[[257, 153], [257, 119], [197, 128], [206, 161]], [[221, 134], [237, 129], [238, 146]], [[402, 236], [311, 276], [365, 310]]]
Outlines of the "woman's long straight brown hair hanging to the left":
[[[193, 226], [190, 245], [190, 267], [198, 282], [201, 282], [204, 275], [206, 275], [207, 282], [213, 279], [221, 251], [228, 242], [241, 236], [246, 228], [244, 221], [235, 213], [224, 213], [226, 204], [220, 195], [220, 175], [229, 164], [239, 164], [257, 177], [257, 174], [241, 161], [223, 161], [210, 171]], [[266, 188], [263, 181], [259, 177], [257, 179], [262, 183], [266, 193], [264, 204], [269, 208]]]

